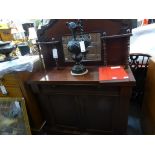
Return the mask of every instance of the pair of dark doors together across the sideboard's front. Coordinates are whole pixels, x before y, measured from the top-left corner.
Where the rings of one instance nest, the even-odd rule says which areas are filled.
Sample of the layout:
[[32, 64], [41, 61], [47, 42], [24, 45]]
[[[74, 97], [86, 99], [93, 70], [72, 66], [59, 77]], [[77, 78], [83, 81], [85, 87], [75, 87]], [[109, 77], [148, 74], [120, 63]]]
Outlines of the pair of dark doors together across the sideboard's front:
[[47, 124], [59, 129], [112, 133], [119, 120], [119, 96], [41, 95]]

